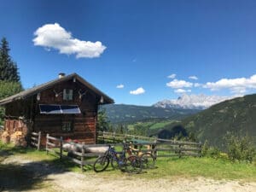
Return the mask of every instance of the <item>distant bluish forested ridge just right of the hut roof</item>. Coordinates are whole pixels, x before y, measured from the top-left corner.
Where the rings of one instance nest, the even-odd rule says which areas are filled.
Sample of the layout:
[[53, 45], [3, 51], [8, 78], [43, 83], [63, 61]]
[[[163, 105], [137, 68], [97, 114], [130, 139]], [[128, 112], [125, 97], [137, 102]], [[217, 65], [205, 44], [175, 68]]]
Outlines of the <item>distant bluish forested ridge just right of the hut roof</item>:
[[111, 104], [102, 106], [106, 109], [112, 123], [136, 122], [143, 119], [183, 119], [198, 113], [195, 109], [154, 108], [146, 106]]

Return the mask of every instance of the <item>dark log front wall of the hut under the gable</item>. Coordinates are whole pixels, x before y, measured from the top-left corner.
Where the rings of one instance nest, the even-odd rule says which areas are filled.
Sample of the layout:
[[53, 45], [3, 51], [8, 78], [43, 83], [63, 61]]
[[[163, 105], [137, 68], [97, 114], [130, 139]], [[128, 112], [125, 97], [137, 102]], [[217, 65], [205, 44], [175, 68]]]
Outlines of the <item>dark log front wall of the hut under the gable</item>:
[[[73, 100], [63, 100], [63, 90], [73, 90]], [[56, 95], [57, 94], [57, 95]], [[82, 95], [82, 96], [81, 96]], [[34, 108], [34, 131], [43, 134], [42, 144], [45, 144], [45, 135], [63, 137], [63, 139], [76, 139], [84, 143], [96, 143], [96, 114], [98, 98], [84, 84], [78, 81], [56, 84], [54, 87], [40, 93], [40, 100]], [[80, 114], [41, 114], [39, 104], [78, 105]], [[63, 124], [71, 122], [72, 131], [63, 131]]]

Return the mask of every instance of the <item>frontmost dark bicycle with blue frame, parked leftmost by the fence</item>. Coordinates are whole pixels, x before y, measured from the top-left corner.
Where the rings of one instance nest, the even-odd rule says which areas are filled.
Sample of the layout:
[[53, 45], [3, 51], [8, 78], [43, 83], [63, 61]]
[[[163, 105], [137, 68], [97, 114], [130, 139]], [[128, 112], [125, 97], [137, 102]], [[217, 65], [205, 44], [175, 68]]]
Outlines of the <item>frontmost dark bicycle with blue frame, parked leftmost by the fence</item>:
[[142, 162], [137, 155], [125, 156], [127, 145], [124, 143], [122, 152], [116, 152], [115, 148], [108, 145], [106, 153], [98, 157], [93, 165], [95, 172], [103, 172], [107, 169], [109, 163], [113, 168], [118, 167], [123, 172], [139, 173], [142, 172]]

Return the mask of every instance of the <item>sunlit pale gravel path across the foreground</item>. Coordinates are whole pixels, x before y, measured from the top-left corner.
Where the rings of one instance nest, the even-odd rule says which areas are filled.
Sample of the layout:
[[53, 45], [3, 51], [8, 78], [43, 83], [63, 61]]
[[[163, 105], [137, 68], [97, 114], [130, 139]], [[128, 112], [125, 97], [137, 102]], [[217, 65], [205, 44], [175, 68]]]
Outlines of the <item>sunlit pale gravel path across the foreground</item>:
[[[15, 156], [3, 161], [3, 164], [19, 164], [36, 177], [44, 176], [43, 187], [26, 191], [86, 191], [86, 192], [255, 192], [256, 183], [239, 181], [216, 181], [204, 177], [171, 179], [142, 179], [125, 175], [122, 177], [106, 177], [95, 173], [60, 172], [40, 162], [32, 162]], [[29, 165], [29, 166], [28, 166]], [[1, 191], [1, 189], [0, 189]], [[5, 190], [8, 191], [8, 190]]]

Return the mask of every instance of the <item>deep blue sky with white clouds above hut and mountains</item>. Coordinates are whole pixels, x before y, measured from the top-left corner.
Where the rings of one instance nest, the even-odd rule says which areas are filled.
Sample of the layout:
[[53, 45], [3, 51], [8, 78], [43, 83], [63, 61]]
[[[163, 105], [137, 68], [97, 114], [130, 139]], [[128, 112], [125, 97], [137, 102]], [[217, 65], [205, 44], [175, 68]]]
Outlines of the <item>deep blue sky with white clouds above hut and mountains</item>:
[[9, 0], [0, 8], [0, 38], [25, 88], [64, 72], [116, 103], [256, 92], [256, 1]]

